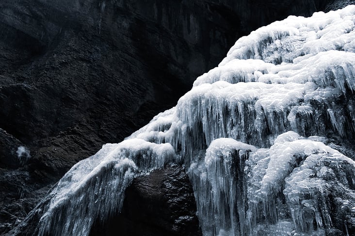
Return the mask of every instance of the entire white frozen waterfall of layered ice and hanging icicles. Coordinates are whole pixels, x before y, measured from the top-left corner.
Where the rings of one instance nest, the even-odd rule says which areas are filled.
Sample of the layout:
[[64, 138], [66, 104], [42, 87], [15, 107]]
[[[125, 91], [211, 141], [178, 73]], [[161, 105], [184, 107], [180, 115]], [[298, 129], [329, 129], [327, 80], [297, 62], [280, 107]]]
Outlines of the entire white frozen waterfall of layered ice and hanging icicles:
[[188, 170], [205, 236], [354, 229], [355, 162], [323, 137], [354, 138], [354, 66], [355, 6], [253, 31], [176, 107], [76, 164], [39, 235], [88, 235], [135, 176], [170, 162]]

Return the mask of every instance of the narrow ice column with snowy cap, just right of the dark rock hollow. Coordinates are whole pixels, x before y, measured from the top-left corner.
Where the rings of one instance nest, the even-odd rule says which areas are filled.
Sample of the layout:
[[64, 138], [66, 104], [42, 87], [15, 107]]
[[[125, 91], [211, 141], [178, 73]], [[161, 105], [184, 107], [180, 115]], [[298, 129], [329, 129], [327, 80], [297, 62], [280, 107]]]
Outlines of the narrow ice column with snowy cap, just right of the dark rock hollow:
[[204, 162], [190, 167], [204, 235], [247, 235], [244, 162], [255, 149], [234, 139], [216, 139]]

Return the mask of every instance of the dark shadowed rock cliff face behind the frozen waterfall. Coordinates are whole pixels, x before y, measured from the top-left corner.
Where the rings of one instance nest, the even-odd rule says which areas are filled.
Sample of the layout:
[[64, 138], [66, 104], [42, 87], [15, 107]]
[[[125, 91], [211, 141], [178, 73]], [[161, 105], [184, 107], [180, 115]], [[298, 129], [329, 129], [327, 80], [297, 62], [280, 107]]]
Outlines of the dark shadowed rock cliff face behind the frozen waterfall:
[[1, 1], [0, 234], [74, 163], [175, 105], [240, 36], [349, 3]]

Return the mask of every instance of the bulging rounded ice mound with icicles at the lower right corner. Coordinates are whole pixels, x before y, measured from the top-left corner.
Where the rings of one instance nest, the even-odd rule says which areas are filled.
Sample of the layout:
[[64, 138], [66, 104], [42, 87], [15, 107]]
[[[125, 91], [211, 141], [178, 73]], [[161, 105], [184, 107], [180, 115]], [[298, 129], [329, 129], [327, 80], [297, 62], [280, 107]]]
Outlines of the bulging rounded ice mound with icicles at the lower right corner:
[[[329, 229], [333, 226], [330, 217], [331, 185], [336, 182], [347, 186], [343, 193], [349, 191], [354, 194], [354, 189], [349, 186], [354, 183], [355, 162], [322, 142], [301, 139], [293, 132], [285, 134], [280, 135], [267, 152], [259, 149], [250, 155], [249, 163], [253, 170], [249, 173], [248, 199], [251, 201], [248, 215], [262, 215], [270, 222], [282, 218], [287, 221], [289, 217], [293, 221], [293, 230], [319, 230], [322, 235], [323, 227]], [[352, 170], [349, 179], [337, 177], [342, 162]], [[283, 209], [285, 207], [287, 209]]]

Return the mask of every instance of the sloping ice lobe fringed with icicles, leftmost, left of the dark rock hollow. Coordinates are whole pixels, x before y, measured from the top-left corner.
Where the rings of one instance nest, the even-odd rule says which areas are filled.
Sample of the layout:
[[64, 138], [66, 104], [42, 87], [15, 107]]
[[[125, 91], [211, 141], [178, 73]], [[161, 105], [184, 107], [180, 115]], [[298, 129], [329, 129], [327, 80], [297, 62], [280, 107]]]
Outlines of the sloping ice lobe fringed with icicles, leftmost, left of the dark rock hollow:
[[120, 209], [135, 174], [161, 168], [176, 158], [167, 143], [130, 139], [104, 145], [94, 156], [74, 165], [50, 193], [39, 235], [88, 235], [97, 219], [107, 219]]

